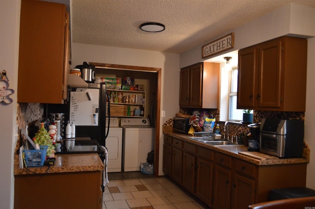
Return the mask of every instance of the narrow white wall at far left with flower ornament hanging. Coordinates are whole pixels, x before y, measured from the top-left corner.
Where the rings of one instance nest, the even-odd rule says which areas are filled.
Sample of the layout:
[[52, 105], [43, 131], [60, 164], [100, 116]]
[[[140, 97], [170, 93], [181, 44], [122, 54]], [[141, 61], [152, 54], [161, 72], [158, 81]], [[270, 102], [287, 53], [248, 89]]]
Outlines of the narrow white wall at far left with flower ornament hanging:
[[9, 105], [0, 104], [0, 209], [13, 209], [14, 173], [13, 156], [17, 139], [17, 74], [18, 50], [20, 33], [20, 0], [2, 0], [0, 6], [0, 71], [6, 70], [9, 89], [15, 91], [10, 96], [13, 102]]

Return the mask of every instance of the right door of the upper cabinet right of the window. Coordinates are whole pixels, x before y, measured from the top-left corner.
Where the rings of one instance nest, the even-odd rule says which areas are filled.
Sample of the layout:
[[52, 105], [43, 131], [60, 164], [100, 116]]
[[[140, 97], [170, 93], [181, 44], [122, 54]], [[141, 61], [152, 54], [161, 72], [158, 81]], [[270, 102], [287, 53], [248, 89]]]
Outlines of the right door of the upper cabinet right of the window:
[[281, 108], [283, 85], [280, 61], [282, 41], [272, 40], [259, 45], [258, 108]]

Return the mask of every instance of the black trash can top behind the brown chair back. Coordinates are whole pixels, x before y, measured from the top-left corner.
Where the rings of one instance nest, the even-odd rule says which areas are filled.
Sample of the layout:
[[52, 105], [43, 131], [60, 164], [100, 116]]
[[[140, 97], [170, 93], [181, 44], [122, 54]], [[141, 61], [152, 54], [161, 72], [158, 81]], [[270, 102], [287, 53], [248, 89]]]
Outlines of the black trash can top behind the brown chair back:
[[268, 201], [312, 196], [315, 196], [315, 190], [307, 187], [280, 188], [270, 190]]

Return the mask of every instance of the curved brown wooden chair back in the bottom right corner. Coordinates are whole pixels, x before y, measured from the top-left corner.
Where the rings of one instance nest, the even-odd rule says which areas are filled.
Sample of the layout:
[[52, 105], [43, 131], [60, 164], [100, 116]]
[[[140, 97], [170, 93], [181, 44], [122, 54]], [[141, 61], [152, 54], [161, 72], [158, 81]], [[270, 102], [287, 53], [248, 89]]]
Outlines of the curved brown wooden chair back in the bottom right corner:
[[315, 208], [315, 197], [274, 200], [250, 205], [248, 209], [312, 209]]

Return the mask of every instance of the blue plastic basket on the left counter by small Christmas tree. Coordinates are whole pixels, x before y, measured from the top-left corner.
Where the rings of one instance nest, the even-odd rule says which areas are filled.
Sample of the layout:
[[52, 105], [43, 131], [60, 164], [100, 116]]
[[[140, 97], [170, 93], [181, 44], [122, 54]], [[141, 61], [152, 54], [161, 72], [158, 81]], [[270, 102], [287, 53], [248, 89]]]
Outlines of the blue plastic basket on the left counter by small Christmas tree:
[[39, 148], [39, 150], [24, 149], [25, 163], [27, 167], [38, 167], [44, 165], [48, 146], [39, 146]]

